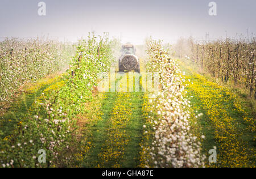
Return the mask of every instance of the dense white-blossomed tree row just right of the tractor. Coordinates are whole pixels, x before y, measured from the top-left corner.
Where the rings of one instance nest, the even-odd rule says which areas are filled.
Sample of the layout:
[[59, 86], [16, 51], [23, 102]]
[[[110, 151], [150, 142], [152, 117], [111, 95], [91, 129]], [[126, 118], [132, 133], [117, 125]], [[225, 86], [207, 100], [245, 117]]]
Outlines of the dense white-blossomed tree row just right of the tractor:
[[155, 99], [148, 100], [144, 111], [148, 130], [152, 135], [145, 139], [142, 166], [146, 167], [204, 167], [204, 156], [200, 154], [200, 142], [190, 132], [189, 103], [182, 95], [184, 79], [168, 50], [163, 49], [161, 41], [148, 40], [148, 71], [159, 73], [160, 91]]

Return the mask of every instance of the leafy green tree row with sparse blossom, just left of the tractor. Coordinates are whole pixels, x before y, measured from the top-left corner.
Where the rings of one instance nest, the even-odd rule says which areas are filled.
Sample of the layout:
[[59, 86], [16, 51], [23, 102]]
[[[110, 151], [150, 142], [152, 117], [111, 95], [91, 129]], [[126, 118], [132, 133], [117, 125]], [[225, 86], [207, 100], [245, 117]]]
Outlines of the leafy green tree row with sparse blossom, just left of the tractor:
[[[110, 64], [108, 36], [88, 36], [80, 41], [72, 67], [62, 80], [48, 87], [24, 114], [10, 138], [0, 140], [1, 167], [65, 167], [72, 163], [76, 121], [92, 97], [97, 73]], [[0, 131], [2, 133], [2, 131]], [[47, 163], [38, 163], [38, 151], [46, 150]]]

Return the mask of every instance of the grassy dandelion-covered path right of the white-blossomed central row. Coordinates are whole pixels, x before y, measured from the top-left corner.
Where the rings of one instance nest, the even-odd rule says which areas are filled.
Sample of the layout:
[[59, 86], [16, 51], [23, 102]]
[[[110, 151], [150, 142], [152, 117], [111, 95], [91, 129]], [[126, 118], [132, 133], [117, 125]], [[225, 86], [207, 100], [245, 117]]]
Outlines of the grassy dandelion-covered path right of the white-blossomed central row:
[[198, 117], [200, 133], [205, 135], [203, 152], [214, 146], [217, 163], [208, 167], [255, 167], [255, 119], [243, 109], [228, 88], [210, 82], [192, 69], [182, 66], [187, 91]]

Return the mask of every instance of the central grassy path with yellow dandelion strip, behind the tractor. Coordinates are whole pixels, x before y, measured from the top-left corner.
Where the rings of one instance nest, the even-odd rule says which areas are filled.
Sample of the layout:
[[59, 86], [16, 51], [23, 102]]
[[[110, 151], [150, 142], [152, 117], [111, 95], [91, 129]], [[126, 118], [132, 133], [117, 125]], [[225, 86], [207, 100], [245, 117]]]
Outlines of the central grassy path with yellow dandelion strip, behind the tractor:
[[137, 167], [143, 135], [143, 92], [105, 92], [101, 120], [89, 127], [92, 143], [82, 167]]

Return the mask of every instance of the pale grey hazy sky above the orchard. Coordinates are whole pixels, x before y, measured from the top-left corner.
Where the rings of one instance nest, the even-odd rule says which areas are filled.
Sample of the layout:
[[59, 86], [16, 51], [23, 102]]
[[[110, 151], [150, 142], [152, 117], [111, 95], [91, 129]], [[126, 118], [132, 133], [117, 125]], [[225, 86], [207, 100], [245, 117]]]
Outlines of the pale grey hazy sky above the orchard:
[[217, 16], [208, 14], [207, 0], [44, 0], [46, 16], [38, 15], [37, 0], [0, 0], [0, 40], [3, 37], [49, 36], [76, 41], [90, 31], [122, 36], [141, 44], [153, 36], [172, 42], [180, 36], [237, 37], [256, 33], [255, 0], [215, 0]]

